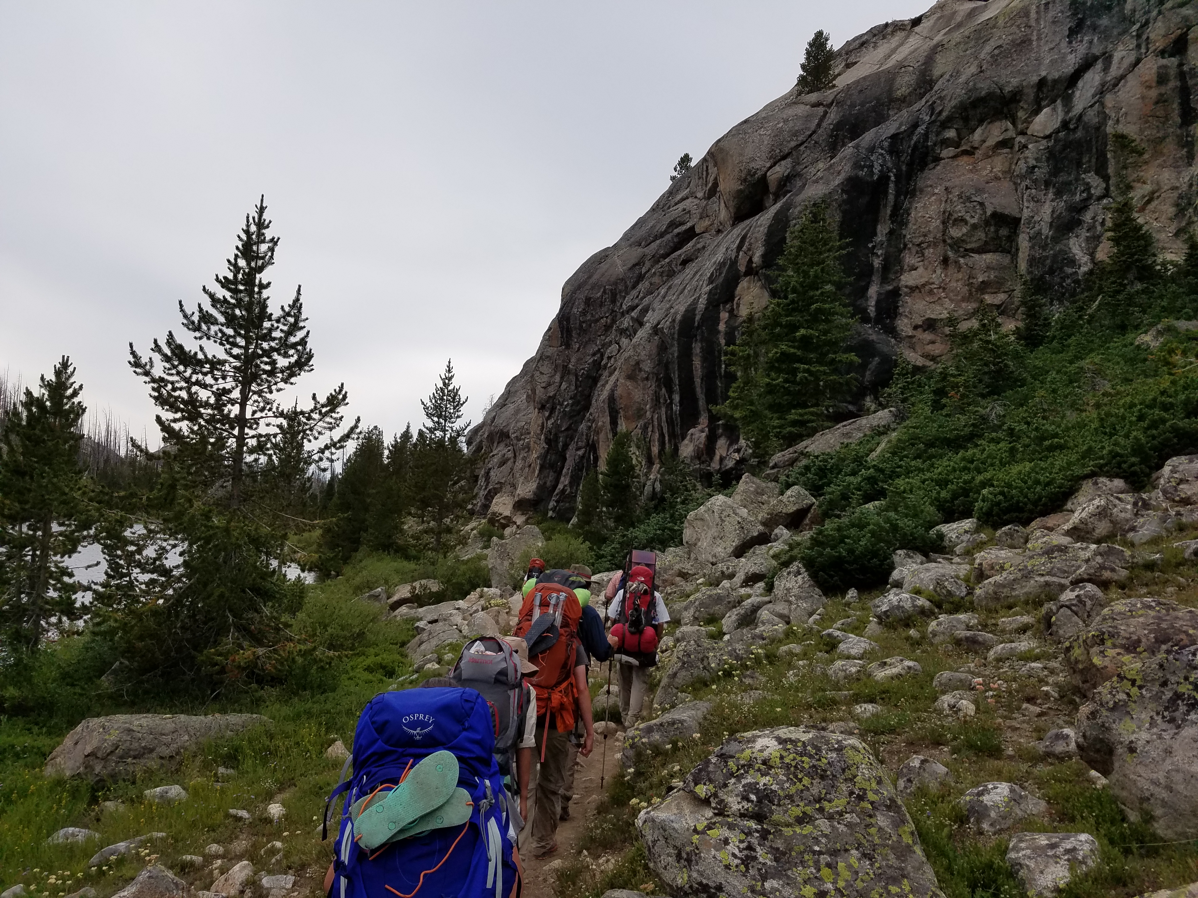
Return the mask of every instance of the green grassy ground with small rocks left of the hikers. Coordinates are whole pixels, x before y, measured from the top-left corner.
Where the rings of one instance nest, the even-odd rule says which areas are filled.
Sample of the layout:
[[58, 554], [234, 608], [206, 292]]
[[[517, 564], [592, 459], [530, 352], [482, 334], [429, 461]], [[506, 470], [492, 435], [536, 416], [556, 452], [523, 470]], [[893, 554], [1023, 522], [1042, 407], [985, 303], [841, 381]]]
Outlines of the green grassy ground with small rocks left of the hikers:
[[[352, 744], [357, 716], [373, 696], [397, 682], [415, 682], [401, 648], [413, 635], [411, 625], [386, 621], [377, 606], [352, 601], [395, 571], [377, 559], [365, 568], [310, 588], [297, 621], [319, 636], [325, 663], [297, 676], [303, 687], [241, 693], [206, 705], [97, 703], [95, 715], [252, 711], [273, 721], [270, 728], [205, 746], [174, 772], [147, 772], [110, 787], [47, 779], [41, 772], [46, 757], [74, 721], [0, 717], [0, 891], [22, 882], [40, 896], [65, 896], [86, 885], [103, 897], [123, 887], [151, 858], [206, 888], [216, 875], [207, 869], [211, 858], [205, 858], [202, 869], [187, 869], [179, 858], [202, 856], [214, 843], [226, 849], [224, 869], [243, 857], [258, 869], [297, 873], [297, 887], [319, 893], [332, 853], [321, 844], [317, 827], [325, 796], [341, 766], [326, 759], [325, 751], [337, 739]], [[236, 773], [218, 777], [218, 767]], [[218, 785], [222, 778], [225, 782]], [[145, 789], [171, 783], [187, 790], [186, 801], [164, 806], [141, 796]], [[122, 802], [120, 809], [101, 809], [101, 802], [114, 800]], [[272, 802], [286, 809], [279, 824], [266, 817]], [[230, 808], [249, 812], [250, 820], [230, 817]], [[47, 837], [65, 826], [90, 829], [99, 838], [79, 845], [47, 844]], [[165, 838], [137, 855], [89, 867], [99, 848], [147, 832]], [[274, 842], [282, 849], [265, 850]]]

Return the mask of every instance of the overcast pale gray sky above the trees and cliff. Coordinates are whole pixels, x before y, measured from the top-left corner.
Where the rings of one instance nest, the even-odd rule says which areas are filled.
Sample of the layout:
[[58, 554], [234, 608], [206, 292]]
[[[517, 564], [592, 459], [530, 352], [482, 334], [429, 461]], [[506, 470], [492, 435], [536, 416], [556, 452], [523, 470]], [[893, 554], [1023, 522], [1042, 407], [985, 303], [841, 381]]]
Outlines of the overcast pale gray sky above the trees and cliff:
[[153, 430], [127, 344], [179, 329], [266, 194], [274, 298], [392, 433], [453, 358], [478, 420], [562, 283], [683, 152], [931, 0], [0, 0], [0, 372], [72, 357]]

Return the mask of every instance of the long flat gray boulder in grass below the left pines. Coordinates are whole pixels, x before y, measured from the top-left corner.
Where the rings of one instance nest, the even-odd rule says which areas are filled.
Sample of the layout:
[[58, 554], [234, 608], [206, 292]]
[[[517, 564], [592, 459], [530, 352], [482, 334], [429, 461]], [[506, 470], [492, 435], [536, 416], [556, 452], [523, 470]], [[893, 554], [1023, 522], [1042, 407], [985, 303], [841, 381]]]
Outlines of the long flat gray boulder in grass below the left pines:
[[92, 782], [126, 779], [149, 767], [174, 770], [183, 754], [207, 739], [220, 739], [270, 724], [259, 714], [117, 714], [89, 717], [72, 729], [46, 760], [46, 776], [78, 776]]

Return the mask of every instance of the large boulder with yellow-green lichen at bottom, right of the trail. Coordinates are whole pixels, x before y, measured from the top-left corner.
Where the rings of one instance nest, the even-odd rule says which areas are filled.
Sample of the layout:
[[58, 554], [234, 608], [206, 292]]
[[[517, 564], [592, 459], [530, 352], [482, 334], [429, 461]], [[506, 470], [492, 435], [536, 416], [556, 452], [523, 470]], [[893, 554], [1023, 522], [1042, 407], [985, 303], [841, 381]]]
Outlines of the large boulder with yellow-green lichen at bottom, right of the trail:
[[852, 736], [738, 734], [636, 825], [677, 898], [942, 896], [885, 771]]

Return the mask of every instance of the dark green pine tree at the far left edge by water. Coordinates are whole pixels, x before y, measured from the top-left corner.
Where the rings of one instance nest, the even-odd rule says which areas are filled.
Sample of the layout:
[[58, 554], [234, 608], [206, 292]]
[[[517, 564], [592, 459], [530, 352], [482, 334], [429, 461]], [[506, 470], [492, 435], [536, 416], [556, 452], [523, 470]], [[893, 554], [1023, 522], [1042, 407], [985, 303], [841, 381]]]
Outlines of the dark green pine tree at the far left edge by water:
[[86, 412], [71, 359], [25, 389], [0, 436], [0, 636], [35, 651], [60, 620], [78, 619], [79, 584], [66, 560], [87, 532], [79, 427]]

